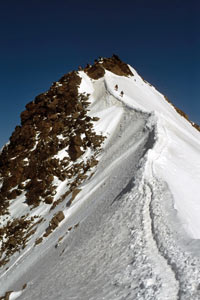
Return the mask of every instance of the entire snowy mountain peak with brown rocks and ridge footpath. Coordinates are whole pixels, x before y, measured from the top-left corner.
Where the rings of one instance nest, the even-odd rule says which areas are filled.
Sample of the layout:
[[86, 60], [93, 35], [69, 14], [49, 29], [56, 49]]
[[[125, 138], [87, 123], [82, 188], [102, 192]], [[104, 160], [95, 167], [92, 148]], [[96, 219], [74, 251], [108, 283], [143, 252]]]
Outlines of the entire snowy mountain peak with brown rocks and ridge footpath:
[[0, 153], [0, 299], [200, 299], [200, 127], [117, 55]]

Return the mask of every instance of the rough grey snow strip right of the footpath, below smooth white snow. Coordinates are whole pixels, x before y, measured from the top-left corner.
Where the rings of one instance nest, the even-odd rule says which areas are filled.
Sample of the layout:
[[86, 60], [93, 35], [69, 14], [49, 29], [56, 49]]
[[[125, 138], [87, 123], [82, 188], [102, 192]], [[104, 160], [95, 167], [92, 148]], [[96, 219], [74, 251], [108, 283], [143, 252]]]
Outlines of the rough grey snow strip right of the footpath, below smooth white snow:
[[[153, 192], [150, 213], [153, 233], [161, 255], [165, 257], [179, 281], [179, 299], [200, 299], [200, 259], [197, 252], [200, 243], [185, 237], [176, 216], [171, 223], [170, 218], [166, 217], [166, 205], [163, 201], [172, 201], [166, 184], [154, 180], [151, 188]], [[170, 209], [168, 204], [167, 210]], [[173, 212], [171, 214], [173, 216]], [[178, 224], [174, 224], [175, 220]], [[176, 230], [173, 230], [174, 228]]]

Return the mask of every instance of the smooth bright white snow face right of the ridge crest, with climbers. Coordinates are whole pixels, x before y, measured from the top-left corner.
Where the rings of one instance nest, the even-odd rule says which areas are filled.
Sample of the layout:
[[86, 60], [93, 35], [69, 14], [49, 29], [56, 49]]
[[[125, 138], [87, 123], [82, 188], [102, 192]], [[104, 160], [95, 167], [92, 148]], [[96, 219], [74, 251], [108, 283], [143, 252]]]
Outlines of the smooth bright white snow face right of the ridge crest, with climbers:
[[[177, 114], [154, 87], [145, 83], [132, 69], [134, 77], [116, 76], [108, 71], [108, 92], [132, 109], [153, 112], [157, 118], [157, 143], [149, 153], [154, 174], [167, 182], [174, 208], [187, 233], [200, 238], [200, 135], [191, 124]], [[118, 90], [114, 89], [118, 85]], [[123, 97], [120, 91], [123, 90]]]

